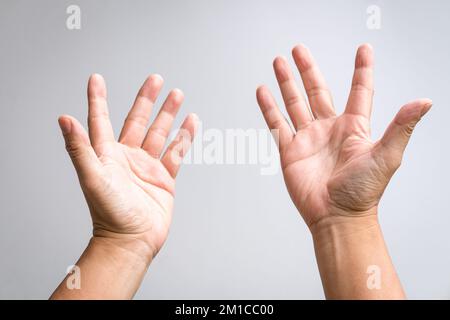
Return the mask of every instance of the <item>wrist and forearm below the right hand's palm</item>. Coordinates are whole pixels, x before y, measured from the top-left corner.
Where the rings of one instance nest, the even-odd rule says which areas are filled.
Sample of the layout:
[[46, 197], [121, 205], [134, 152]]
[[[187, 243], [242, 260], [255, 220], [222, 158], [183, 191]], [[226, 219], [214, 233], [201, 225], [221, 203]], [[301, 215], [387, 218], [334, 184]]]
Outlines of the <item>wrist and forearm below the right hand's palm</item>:
[[332, 216], [312, 226], [327, 299], [404, 299], [377, 215]]

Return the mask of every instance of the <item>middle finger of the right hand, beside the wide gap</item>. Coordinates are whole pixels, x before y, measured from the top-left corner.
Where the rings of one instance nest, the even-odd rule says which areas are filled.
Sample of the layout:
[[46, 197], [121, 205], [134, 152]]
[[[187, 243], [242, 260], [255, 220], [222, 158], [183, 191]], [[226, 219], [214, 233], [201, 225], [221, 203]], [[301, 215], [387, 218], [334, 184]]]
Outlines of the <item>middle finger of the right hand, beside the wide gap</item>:
[[309, 49], [298, 45], [292, 50], [292, 56], [302, 77], [314, 117], [323, 119], [335, 116], [331, 93]]

